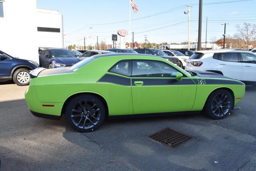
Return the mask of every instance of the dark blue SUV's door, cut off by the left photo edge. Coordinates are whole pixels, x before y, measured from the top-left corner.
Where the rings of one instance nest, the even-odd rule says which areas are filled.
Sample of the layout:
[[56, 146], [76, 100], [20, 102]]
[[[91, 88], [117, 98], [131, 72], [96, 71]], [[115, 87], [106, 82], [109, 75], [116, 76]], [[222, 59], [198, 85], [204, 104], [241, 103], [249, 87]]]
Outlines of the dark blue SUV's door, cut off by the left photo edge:
[[11, 75], [12, 59], [0, 53], [0, 77]]

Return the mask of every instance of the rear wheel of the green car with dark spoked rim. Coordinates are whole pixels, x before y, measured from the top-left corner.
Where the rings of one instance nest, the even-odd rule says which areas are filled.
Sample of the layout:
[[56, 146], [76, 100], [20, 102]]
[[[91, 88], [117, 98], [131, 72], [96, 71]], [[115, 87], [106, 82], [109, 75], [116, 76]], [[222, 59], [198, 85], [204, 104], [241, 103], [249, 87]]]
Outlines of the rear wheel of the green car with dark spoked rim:
[[82, 94], [68, 102], [65, 114], [70, 127], [79, 132], [90, 132], [103, 123], [106, 109], [98, 97]]

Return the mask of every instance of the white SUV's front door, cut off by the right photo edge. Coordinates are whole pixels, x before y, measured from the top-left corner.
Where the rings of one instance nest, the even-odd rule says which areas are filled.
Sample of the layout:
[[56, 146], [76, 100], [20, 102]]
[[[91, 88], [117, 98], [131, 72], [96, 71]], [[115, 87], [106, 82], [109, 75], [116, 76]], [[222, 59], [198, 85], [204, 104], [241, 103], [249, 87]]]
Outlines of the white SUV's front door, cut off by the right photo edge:
[[240, 53], [243, 65], [243, 81], [256, 82], [256, 55], [251, 53]]

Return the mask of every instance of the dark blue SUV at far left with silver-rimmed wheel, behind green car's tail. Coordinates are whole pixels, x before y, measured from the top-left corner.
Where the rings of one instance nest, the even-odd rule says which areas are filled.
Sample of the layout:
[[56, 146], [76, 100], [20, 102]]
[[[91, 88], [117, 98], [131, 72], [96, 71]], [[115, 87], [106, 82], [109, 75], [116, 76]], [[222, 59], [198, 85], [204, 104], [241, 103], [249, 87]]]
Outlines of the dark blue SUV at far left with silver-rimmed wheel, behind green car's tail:
[[35, 61], [14, 58], [0, 51], [0, 80], [13, 80], [17, 85], [28, 85], [30, 70], [38, 67]]

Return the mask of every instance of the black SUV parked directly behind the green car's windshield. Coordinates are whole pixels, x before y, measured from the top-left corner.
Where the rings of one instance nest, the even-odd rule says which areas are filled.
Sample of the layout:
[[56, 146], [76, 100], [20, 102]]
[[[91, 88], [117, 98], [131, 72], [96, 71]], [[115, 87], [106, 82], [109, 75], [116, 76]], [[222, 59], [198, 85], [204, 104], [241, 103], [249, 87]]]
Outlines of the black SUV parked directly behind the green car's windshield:
[[162, 50], [154, 49], [154, 48], [139, 48], [134, 49], [138, 54], [149, 54], [149, 55], [156, 55], [161, 56], [162, 58], [172, 62], [173, 64], [176, 64], [179, 66], [179, 59], [174, 56], [168, 56], [166, 53], [164, 53]]

